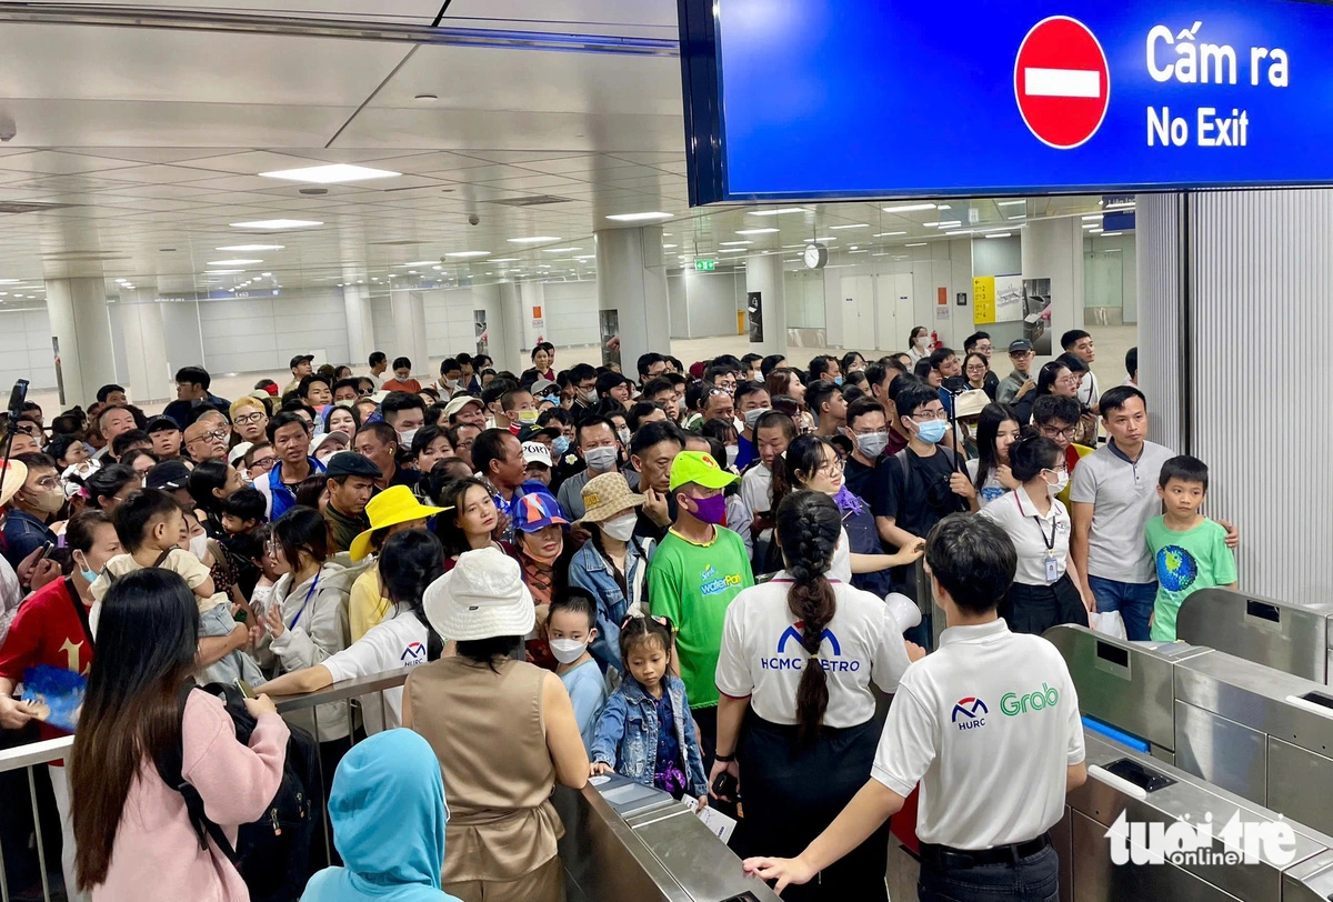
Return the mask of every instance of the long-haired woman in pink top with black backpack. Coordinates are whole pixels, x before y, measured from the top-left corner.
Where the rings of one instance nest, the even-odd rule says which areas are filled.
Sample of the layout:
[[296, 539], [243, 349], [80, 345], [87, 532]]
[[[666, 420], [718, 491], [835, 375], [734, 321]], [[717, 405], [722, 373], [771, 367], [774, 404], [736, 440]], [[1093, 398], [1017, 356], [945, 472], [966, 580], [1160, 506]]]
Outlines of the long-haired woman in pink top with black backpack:
[[181, 775], [235, 843], [236, 827], [259, 819], [277, 793], [288, 729], [267, 695], [245, 702], [259, 721], [248, 747], [207, 693], [191, 691], [181, 715], [197, 632], [193, 594], [169, 570], [131, 573], [103, 601], [69, 758], [79, 885], [95, 902], [249, 899], [212, 841], [200, 847], [184, 797], [155, 761], [180, 743]]

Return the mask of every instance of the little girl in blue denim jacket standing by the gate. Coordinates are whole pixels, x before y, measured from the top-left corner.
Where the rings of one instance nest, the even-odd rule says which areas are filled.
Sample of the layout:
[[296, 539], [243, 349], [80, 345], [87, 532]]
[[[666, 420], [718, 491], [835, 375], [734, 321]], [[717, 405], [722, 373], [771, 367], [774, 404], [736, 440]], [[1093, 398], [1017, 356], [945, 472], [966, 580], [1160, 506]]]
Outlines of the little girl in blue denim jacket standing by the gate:
[[694, 738], [685, 683], [666, 673], [670, 621], [631, 617], [620, 630], [624, 681], [607, 699], [592, 743], [592, 773], [612, 770], [680, 798], [706, 798], [704, 758]]

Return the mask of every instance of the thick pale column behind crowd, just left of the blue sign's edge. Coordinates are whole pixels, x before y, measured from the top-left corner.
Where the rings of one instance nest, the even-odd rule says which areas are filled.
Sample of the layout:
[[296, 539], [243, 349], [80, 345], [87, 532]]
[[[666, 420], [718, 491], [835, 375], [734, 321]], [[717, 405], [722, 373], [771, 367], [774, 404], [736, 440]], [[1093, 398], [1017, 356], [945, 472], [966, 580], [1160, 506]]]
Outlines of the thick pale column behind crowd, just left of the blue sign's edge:
[[637, 378], [639, 357], [656, 350], [670, 353], [670, 313], [666, 302], [666, 266], [660, 225], [604, 229], [597, 233], [597, 309], [616, 312], [621, 369]]

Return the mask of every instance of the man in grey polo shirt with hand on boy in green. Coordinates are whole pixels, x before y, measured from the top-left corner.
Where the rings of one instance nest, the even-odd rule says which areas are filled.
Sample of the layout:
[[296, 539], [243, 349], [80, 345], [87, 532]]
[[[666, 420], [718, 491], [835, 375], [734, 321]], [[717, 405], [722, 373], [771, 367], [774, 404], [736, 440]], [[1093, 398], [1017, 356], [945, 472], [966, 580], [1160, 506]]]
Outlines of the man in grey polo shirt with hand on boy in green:
[[[1110, 441], [1078, 462], [1069, 490], [1069, 553], [1097, 610], [1118, 610], [1129, 638], [1148, 640], [1157, 569], [1144, 528], [1161, 513], [1157, 476], [1176, 452], [1148, 441], [1148, 404], [1137, 388], [1118, 385], [1102, 394], [1101, 421]], [[1236, 529], [1218, 522], [1234, 548]]]

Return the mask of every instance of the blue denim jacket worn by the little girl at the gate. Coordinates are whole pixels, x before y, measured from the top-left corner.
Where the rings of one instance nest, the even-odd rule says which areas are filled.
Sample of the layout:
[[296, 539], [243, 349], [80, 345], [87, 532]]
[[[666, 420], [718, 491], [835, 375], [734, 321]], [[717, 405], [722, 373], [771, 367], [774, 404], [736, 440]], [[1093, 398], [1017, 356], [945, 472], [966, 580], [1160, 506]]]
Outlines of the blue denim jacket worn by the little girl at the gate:
[[[704, 757], [694, 739], [694, 722], [689, 715], [685, 683], [678, 677], [663, 677], [663, 687], [670, 693], [670, 709], [676, 721], [676, 742], [685, 754], [684, 767], [689, 790], [694, 795], [708, 791], [704, 775]], [[597, 721], [597, 738], [592, 743], [592, 759], [612, 765], [617, 774], [629, 777], [644, 786], [653, 785], [657, 763], [657, 701], [644, 691], [631, 677], [607, 699], [607, 707]]]

